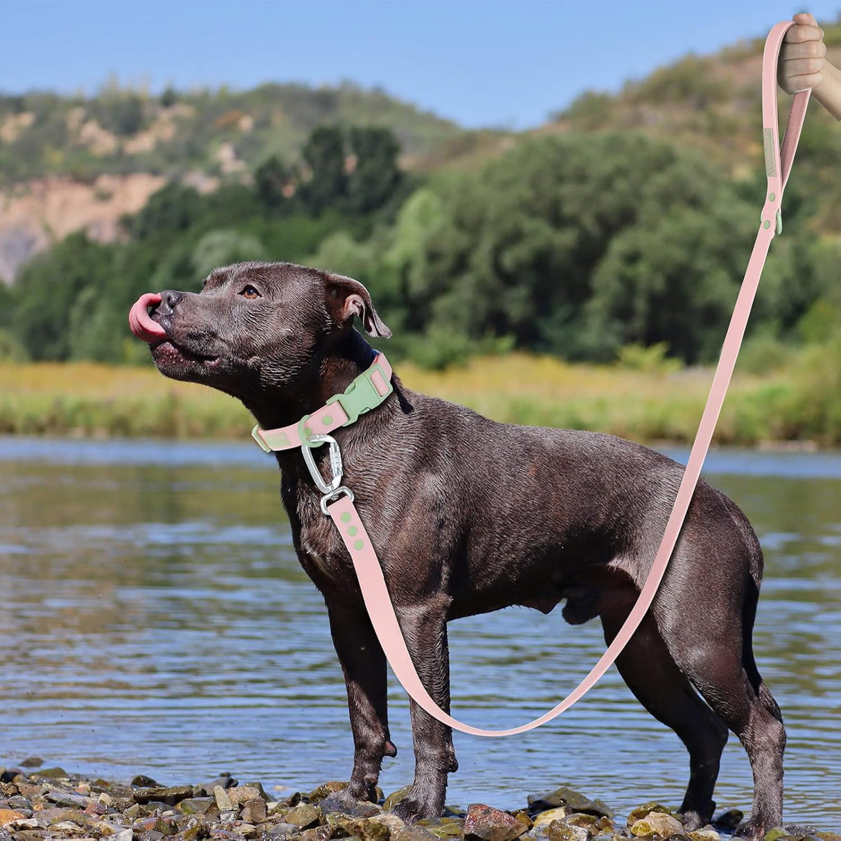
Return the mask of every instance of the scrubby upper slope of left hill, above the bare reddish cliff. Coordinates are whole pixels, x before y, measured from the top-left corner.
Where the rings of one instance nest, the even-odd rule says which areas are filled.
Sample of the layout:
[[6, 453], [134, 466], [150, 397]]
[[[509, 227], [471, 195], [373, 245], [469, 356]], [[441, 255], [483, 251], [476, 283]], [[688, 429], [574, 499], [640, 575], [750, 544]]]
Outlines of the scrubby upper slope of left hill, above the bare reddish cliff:
[[93, 98], [0, 95], [0, 177], [7, 184], [131, 172], [224, 177], [272, 154], [294, 157], [316, 125], [337, 122], [390, 128], [410, 163], [464, 134], [449, 120], [350, 82], [158, 97], [112, 84]]

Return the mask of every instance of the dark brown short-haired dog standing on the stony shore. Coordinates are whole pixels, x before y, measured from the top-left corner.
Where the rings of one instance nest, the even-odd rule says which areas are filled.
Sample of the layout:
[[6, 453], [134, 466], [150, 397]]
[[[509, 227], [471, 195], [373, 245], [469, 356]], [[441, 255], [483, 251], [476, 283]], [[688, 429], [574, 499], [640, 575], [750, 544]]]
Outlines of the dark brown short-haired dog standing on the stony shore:
[[[290, 263], [220, 268], [200, 294], [161, 296], [151, 316], [167, 338], [146, 336], [161, 373], [234, 395], [264, 429], [298, 421], [368, 368], [373, 352], [354, 316], [371, 335], [390, 335], [361, 283]], [[648, 573], [683, 469], [613, 436], [495, 423], [415, 394], [396, 376], [383, 405], [335, 434], [406, 642], [445, 710], [448, 620], [510, 605], [547, 613], [565, 600], [567, 621], [598, 616], [613, 638]], [[301, 453], [277, 458], [295, 548], [324, 595], [345, 674], [355, 745], [346, 796], [368, 798], [383, 756], [396, 753], [385, 659]], [[728, 729], [754, 771], [742, 833], [781, 822], [785, 729], [751, 646], [761, 578], [747, 519], [702, 481], [653, 607], [617, 661], [634, 695], [689, 750], [682, 813], [690, 828], [715, 807]], [[458, 767], [451, 732], [414, 703], [411, 721], [415, 782], [396, 811], [436, 817]]]

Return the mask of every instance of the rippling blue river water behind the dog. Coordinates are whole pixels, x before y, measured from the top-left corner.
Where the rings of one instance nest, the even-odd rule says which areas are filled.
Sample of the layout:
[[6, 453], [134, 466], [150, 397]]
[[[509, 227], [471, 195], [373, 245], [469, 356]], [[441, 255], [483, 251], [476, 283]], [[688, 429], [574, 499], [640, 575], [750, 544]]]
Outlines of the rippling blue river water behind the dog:
[[[674, 458], [684, 452], [669, 452]], [[706, 477], [759, 534], [755, 648], [785, 714], [787, 821], [841, 828], [841, 455], [711, 453]], [[510, 727], [553, 706], [604, 649], [597, 623], [511, 609], [452, 623], [452, 706]], [[296, 561], [271, 457], [241, 443], [0, 438], [0, 765], [161, 783], [230, 771], [307, 791], [346, 779], [352, 739], [325, 606]], [[408, 706], [390, 682], [410, 782]], [[687, 754], [615, 669], [516, 738], [455, 734], [447, 801], [508, 808], [559, 784], [619, 813], [680, 805]], [[719, 809], [747, 812], [725, 749]], [[283, 790], [278, 790], [283, 791]], [[281, 796], [278, 794], [278, 796]]]

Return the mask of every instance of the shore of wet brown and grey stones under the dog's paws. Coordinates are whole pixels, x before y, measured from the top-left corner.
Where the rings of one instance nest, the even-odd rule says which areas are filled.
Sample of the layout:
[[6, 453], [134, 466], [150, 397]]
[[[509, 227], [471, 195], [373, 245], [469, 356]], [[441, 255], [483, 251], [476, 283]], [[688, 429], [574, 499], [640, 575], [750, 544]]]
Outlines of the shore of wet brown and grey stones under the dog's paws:
[[[68, 775], [61, 768], [0, 768], [0, 841], [718, 841], [743, 817], [724, 812], [713, 825], [686, 832], [668, 807], [653, 802], [619, 822], [603, 802], [561, 787], [529, 796], [521, 808], [473, 803], [466, 810], [447, 807], [440, 819], [407, 825], [391, 811], [407, 789], [380, 796], [378, 805], [348, 805], [336, 795], [344, 785], [328, 782], [280, 797], [259, 782], [241, 783], [227, 774], [199, 785], [162, 786], [146, 776], [122, 785]], [[807, 826], [775, 829], [765, 838], [841, 841], [841, 835]]]

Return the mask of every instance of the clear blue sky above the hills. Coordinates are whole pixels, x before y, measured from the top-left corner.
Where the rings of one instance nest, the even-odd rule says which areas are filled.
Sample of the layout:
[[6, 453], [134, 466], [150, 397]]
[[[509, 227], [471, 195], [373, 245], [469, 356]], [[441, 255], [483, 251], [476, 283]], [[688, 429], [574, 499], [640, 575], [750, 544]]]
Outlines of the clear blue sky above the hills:
[[468, 126], [538, 124], [587, 88], [841, 0], [0, 0], [0, 89], [352, 79]]

